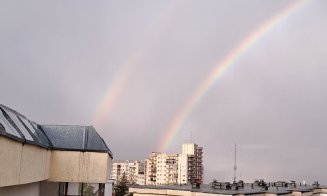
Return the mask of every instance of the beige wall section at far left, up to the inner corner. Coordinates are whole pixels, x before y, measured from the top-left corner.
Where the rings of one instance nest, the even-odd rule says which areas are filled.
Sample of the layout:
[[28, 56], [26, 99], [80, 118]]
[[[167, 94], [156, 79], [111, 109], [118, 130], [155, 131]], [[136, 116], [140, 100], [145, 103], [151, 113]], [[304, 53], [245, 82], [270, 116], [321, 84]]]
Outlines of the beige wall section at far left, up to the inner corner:
[[0, 136], [0, 187], [48, 179], [51, 151]]

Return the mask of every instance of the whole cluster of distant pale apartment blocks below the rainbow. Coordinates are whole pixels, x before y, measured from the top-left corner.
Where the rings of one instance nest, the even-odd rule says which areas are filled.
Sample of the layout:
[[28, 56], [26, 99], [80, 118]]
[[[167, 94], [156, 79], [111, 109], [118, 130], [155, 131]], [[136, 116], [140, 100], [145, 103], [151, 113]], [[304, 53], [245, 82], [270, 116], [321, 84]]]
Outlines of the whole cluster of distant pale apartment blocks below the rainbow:
[[142, 160], [114, 160], [111, 179], [138, 185], [187, 185], [203, 183], [203, 148], [184, 143], [175, 153], [152, 152]]

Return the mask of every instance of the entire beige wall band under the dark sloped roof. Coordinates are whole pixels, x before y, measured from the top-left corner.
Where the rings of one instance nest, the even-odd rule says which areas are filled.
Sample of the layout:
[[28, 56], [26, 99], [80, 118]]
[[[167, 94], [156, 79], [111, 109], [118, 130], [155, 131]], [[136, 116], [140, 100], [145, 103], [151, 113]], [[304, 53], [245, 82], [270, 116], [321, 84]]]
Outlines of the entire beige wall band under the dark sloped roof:
[[105, 183], [108, 153], [48, 150], [0, 136], [0, 187], [40, 181]]

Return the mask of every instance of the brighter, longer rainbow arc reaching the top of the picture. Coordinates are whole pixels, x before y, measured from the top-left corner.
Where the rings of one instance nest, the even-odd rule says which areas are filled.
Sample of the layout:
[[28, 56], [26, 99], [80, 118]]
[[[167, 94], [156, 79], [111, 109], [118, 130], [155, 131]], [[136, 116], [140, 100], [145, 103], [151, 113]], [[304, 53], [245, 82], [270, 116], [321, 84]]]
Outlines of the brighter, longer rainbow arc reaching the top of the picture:
[[159, 146], [159, 151], [164, 152], [172, 143], [174, 137], [181, 129], [186, 118], [190, 115], [193, 108], [215, 83], [215, 81], [224, 73], [224, 71], [231, 65], [233, 65], [240, 57], [249, 50], [256, 42], [260, 40], [271, 29], [287, 19], [295, 11], [303, 7], [308, 1], [295, 1], [287, 8], [264, 22], [249, 36], [247, 36], [234, 50], [232, 50], [220, 63], [218, 63], [209, 76], [203, 81], [203, 83], [196, 89], [189, 100], [183, 105], [181, 110], [173, 118], [168, 131], [166, 132], [162, 142]]

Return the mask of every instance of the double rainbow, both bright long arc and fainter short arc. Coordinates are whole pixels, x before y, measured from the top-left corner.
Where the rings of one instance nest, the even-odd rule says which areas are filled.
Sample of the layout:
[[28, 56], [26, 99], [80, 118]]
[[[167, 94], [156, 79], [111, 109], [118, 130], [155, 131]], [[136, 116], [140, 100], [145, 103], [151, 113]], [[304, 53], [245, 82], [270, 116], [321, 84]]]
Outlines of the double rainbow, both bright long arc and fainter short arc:
[[[288, 19], [293, 13], [301, 10], [308, 2], [312, 0], [297, 0], [287, 6], [285, 9], [266, 20], [255, 31], [245, 37], [233, 50], [231, 50], [221, 61], [219, 61], [208, 77], [199, 85], [199, 87], [191, 94], [190, 98], [185, 102], [181, 109], [172, 119], [164, 138], [159, 143], [158, 151], [165, 152], [171, 145], [177, 133], [181, 130], [188, 116], [191, 114], [195, 106], [200, 102], [204, 95], [211, 89], [214, 83], [222, 76], [226, 70], [236, 62], [249, 50], [252, 46], [260, 41], [273, 28], [277, 27], [283, 21]], [[140, 59], [140, 54], [136, 53], [129, 58], [128, 62], [122, 66], [123, 68], [116, 74], [114, 79], [108, 85], [106, 93], [96, 108], [93, 123], [103, 124], [110, 115], [111, 108], [116, 103], [118, 97], [123, 91], [125, 84], [133, 70], [133, 65]]]

